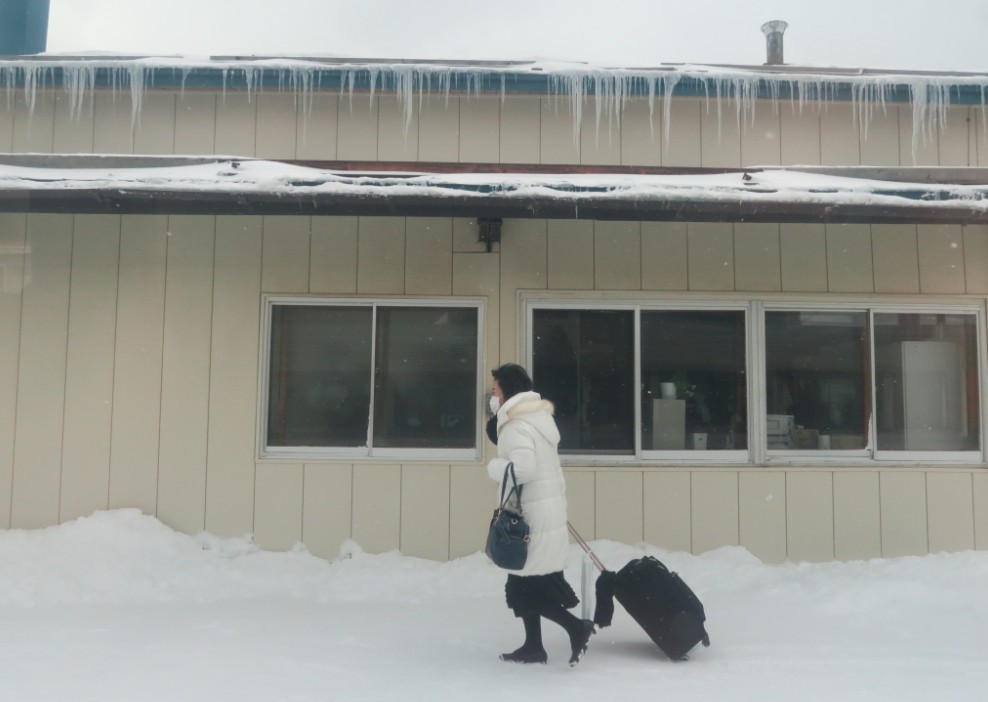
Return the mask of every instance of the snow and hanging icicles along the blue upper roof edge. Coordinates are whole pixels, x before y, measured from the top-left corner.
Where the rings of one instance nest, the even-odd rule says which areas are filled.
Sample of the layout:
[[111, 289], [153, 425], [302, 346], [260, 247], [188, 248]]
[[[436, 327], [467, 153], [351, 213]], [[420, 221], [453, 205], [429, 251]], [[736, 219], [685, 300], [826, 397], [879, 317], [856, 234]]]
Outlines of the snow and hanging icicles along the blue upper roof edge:
[[[352, 102], [355, 92], [394, 92], [404, 111], [406, 128], [416, 105], [451, 92], [468, 95], [508, 92], [542, 94], [568, 100], [579, 135], [584, 107], [592, 101], [598, 128], [619, 122], [627, 100], [647, 99], [650, 114], [657, 101], [663, 110], [664, 138], [671, 123], [670, 100], [681, 95], [700, 96], [719, 120], [734, 113], [739, 131], [750, 128], [756, 101], [766, 99], [778, 110], [787, 104], [794, 112], [823, 110], [834, 101], [852, 104], [854, 124], [867, 138], [872, 117], [891, 102], [912, 107], [912, 147], [933, 139], [946, 129], [946, 108], [972, 104], [981, 108], [982, 126], [988, 129], [985, 94], [988, 74], [967, 72], [876, 71], [868, 69], [800, 66], [716, 66], [663, 64], [655, 67], [611, 67], [586, 63], [540, 61], [400, 61], [292, 57], [184, 57], [184, 56], [61, 56], [39, 55], [0, 59], [0, 86], [8, 105], [22, 89], [33, 111], [40, 88], [61, 86], [69, 94], [70, 112], [81, 113], [96, 87], [128, 91], [132, 123], [140, 122], [148, 89], [213, 87], [226, 90], [278, 90], [294, 93], [306, 114], [318, 90], [339, 90]], [[724, 109], [726, 106], [726, 110]], [[733, 109], [732, 109], [733, 108]], [[575, 137], [575, 138], [578, 138]]]

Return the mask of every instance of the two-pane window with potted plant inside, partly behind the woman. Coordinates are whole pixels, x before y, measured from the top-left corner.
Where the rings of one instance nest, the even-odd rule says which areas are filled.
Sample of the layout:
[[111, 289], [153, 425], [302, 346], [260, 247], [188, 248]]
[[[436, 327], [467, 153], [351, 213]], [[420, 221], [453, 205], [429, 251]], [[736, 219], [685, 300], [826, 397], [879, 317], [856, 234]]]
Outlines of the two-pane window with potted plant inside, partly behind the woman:
[[532, 346], [561, 453], [747, 448], [743, 309], [534, 309]]

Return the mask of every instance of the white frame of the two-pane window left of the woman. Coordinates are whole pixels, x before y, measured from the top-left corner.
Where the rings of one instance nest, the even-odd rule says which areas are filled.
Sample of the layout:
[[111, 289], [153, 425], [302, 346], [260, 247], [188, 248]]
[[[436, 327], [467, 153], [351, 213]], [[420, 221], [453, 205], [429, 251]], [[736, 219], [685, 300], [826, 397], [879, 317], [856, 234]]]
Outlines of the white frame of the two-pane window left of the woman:
[[[361, 307], [371, 310], [371, 383], [370, 408], [367, 420], [366, 446], [269, 446], [267, 442], [268, 409], [270, 393], [270, 356], [271, 356], [271, 316], [277, 305], [312, 306], [312, 307]], [[373, 390], [373, 360], [377, 352], [377, 310], [379, 307], [463, 307], [477, 311], [477, 367], [475, 399], [477, 415], [474, 426], [473, 448], [375, 448], [374, 432], [374, 390]], [[484, 409], [480, 406], [486, 389], [483, 373], [485, 356], [484, 321], [485, 300], [477, 297], [325, 297], [306, 295], [264, 295], [262, 298], [261, 324], [261, 353], [258, 383], [258, 424], [257, 453], [261, 459], [305, 460], [305, 459], [346, 459], [346, 460], [413, 460], [413, 461], [477, 461], [481, 458], [483, 444], [483, 424], [487, 420]]]

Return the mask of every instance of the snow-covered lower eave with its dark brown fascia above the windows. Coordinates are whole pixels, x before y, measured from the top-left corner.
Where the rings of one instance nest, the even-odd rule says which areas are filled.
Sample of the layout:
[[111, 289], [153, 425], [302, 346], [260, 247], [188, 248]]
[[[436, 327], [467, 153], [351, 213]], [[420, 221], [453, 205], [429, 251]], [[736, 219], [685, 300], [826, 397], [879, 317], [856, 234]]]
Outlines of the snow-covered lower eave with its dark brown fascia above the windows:
[[983, 169], [961, 169], [965, 182], [951, 183], [775, 167], [654, 175], [430, 174], [354, 173], [231, 157], [39, 155], [6, 161], [0, 163], [5, 211], [988, 223]]

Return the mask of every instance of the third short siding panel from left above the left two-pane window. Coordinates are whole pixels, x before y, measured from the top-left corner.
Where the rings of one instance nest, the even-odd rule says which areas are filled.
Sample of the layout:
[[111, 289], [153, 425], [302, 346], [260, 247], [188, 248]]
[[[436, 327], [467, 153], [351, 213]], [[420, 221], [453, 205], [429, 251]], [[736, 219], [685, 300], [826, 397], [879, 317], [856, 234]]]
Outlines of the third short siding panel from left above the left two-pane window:
[[405, 218], [361, 217], [357, 236], [357, 292], [400, 295], [405, 290]]

